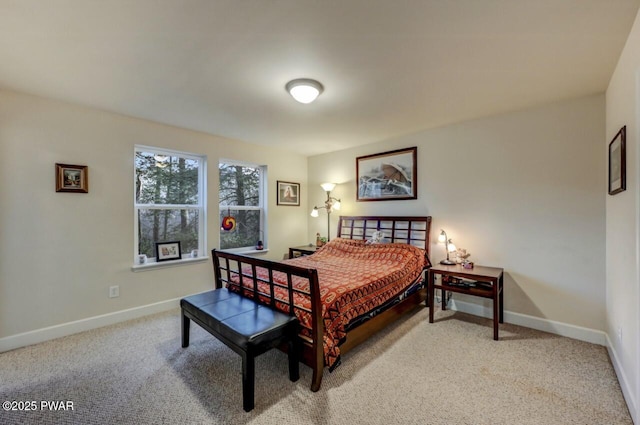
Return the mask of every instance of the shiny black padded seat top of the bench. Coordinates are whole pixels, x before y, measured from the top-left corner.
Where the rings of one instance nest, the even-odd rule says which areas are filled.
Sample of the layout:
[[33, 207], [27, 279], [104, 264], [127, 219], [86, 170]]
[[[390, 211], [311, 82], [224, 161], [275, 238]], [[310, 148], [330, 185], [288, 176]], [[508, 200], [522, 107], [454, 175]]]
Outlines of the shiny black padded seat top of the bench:
[[190, 316], [232, 344], [249, 349], [290, 332], [297, 318], [228, 291], [215, 289], [180, 300]]

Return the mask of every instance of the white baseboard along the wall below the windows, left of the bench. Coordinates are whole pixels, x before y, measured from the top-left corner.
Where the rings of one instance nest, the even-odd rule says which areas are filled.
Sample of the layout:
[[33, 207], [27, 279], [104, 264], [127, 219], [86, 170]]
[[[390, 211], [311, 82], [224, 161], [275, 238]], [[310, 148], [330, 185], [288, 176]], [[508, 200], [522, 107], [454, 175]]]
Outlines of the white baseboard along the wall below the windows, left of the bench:
[[127, 310], [116, 311], [114, 313], [102, 314], [100, 316], [76, 320], [74, 322], [36, 329], [35, 331], [11, 335], [5, 338], [0, 338], [0, 353], [14, 350], [20, 347], [26, 347], [27, 345], [33, 345], [51, 339], [75, 334], [78, 332], [100, 328], [102, 326], [113, 325], [115, 323], [124, 322], [126, 320], [137, 319], [138, 317], [147, 316], [149, 314], [160, 313], [162, 311], [171, 310], [172, 308], [177, 308], [179, 306], [180, 298], [175, 298], [154, 304], [134, 307]]

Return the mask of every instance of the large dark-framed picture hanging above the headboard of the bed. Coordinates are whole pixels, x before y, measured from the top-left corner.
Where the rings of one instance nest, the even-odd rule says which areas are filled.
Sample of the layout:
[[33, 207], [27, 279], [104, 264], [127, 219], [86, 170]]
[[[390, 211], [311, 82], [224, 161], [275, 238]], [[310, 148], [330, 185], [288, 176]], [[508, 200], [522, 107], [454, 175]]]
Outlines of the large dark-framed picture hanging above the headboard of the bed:
[[356, 158], [356, 201], [418, 198], [418, 148]]

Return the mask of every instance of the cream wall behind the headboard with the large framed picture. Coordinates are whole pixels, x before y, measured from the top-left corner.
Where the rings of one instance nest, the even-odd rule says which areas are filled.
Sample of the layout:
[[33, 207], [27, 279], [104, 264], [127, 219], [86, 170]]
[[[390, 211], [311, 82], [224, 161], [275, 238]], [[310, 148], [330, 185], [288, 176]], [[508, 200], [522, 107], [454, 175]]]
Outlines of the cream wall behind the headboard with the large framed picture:
[[[431, 215], [432, 243], [443, 228], [472, 261], [504, 267], [506, 310], [602, 331], [603, 139], [603, 95], [424, 131], [309, 158], [309, 206], [333, 181], [343, 214]], [[418, 199], [355, 202], [355, 158], [411, 146]], [[309, 239], [326, 234], [317, 220]], [[442, 258], [444, 247], [432, 245], [432, 259]]]

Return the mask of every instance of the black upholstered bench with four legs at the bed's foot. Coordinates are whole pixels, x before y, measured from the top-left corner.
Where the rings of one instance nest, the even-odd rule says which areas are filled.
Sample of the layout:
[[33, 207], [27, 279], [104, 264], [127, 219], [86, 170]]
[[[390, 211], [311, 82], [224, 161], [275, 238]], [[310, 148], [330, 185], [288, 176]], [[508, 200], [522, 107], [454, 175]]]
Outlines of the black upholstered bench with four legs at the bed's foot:
[[191, 320], [242, 356], [242, 405], [254, 406], [255, 357], [286, 343], [289, 379], [299, 378], [298, 319], [273, 310], [226, 288], [180, 300], [182, 346], [189, 346]]

